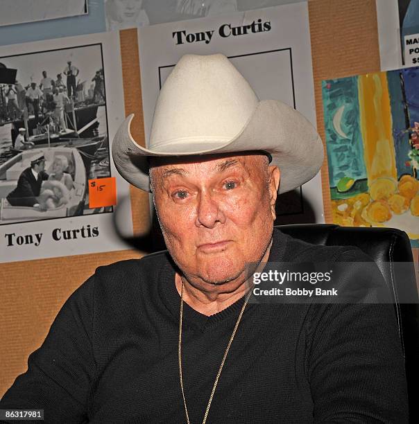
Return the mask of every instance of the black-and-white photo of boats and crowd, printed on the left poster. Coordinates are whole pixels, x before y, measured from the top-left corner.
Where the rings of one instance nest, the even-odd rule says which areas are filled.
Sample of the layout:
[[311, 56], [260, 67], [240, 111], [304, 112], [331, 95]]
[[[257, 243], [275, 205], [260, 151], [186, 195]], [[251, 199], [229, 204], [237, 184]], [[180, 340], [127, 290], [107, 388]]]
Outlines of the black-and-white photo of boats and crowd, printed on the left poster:
[[101, 44], [0, 58], [0, 224], [111, 212], [109, 160]]

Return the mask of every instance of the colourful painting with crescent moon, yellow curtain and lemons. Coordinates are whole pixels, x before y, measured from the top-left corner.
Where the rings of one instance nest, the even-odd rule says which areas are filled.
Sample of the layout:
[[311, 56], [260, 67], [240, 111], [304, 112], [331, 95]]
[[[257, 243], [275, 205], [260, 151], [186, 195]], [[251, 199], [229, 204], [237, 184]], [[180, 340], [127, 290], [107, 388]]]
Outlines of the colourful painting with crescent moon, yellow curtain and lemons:
[[419, 68], [322, 91], [333, 222], [402, 229], [419, 247]]

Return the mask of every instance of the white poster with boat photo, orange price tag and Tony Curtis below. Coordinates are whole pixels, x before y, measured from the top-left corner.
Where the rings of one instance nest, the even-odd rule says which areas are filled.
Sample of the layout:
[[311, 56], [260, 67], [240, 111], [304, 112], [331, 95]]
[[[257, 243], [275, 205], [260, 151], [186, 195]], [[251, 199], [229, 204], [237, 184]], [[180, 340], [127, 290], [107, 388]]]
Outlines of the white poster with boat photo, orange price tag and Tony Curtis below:
[[110, 156], [119, 33], [4, 46], [0, 63], [0, 262], [127, 249], [113, 216], [129, 186]]

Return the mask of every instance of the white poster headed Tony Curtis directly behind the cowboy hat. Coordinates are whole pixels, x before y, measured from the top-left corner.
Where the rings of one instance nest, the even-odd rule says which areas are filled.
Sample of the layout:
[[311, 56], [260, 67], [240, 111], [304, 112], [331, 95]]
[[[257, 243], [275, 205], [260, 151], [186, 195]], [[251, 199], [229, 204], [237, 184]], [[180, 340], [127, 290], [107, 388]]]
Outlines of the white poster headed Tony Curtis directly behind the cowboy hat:
[[[260, 100], [281, 100], [316, 125], [306, 2], [148, 26], [139, 29], [138, 38], [146, 140], [160, 87], [186, 53], [223, 53]], [[278, 224], [324, 222], [320, 173], [281, 195], [277, 215]]]

